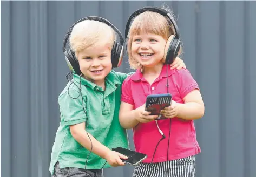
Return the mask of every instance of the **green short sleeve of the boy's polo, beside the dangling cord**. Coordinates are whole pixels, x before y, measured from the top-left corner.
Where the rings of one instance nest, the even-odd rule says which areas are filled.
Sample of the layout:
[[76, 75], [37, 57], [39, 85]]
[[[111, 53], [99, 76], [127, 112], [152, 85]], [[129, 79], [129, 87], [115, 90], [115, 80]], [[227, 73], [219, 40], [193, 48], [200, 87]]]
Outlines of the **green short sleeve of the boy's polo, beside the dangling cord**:
[[80, 91], [71, 87], [58, 97], [61, 117], [65, 125], [86, 122], [86, 97], [83, 96], [82, 98]]

